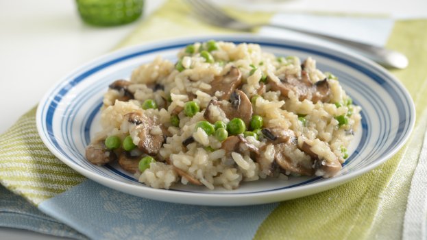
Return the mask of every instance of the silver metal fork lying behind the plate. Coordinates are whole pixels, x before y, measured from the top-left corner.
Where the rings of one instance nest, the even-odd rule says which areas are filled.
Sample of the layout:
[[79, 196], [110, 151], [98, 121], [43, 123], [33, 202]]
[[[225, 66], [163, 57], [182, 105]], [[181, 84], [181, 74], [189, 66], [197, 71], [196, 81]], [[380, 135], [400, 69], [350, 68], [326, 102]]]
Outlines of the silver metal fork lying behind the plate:
[[383, 67], [392, 68], [392, 69], [404, 69], [408, 66], [408, 58], [404, 54], [393, 51], [391, 49], [386, 49], [384, 47], [379, 47], [376, 45], [369, 45], [366, 43], [359, 43], [354, 40], [347, 40], [343, 38], [338, 38], [335, 36], [329, 36], [326, 34], [320, 34], [317, 32], [310, 32], [308, 30], [297, 29], [294, 27], [288, 27], [283, 25], [276, 25], [273, 23], [260, 23], [260, 24], [249, 24], [244, 23], [238, 19], [234, 19], [232, 16], [225, 14], [221, 8], [218, 8], [216, 5], [209, 3], [206, 0], [186, 0], [186, 2], [191, 5], [195, 14], [199, 16], [203, 21], [211, 25], [216, 25], [218, 27], [225, 27], [229, 29], [251, 32], [256, 27], [278, 27], [282, 29], [291, 30], [293, 32], [298, 32], [310, 36], [315, 36], [317, 38], [323, 38], [325, 40], [330, 40], [334, 43], [339, 43], [346, 47], [357, 50], [363, 56], [374, 60]]

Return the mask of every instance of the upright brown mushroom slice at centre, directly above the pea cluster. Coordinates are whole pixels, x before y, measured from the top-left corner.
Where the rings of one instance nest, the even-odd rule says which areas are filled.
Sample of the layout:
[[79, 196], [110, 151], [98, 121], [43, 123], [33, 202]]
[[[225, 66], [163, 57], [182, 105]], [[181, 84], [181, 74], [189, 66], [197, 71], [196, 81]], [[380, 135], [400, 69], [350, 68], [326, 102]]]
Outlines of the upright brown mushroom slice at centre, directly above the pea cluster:
[[[252, 104], [249, 98], [243, 91], [236, 90], [230, 95], [230, 101], [217, 101], [212, 99], [204, 112], [204, 118], [210, 123], [215, 123], [219, 120], [215, 115], [212, 115], [213, 108], [221, 110], [228, 119], [242, 119], [246, 125], [249, 125], [253, 114]], [[218, 109], [219, 108], [219, 109]]]

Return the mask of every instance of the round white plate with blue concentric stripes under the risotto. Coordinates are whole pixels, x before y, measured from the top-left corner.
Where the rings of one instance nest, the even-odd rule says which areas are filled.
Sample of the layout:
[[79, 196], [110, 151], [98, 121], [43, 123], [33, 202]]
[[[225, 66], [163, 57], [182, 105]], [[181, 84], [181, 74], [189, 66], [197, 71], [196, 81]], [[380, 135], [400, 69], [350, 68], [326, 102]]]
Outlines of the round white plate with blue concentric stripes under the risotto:
[[[215, 38], [234, 43], [257, 43], [276, 56], [313, 57], [321, 71], [339, 77], [345, 91], [362, 106], [362, 124], [349, 147], [350, 158], [338, 176], [290, 178], [244, 182], [225, 191], [178, 185], [152, 189], [137, 182], [117, 165], [98, 167], [88, 163], [84, 149], [99, 130], [99, 107], [108, 84], [129, 79], [133, 69], [156, 56], [176, 60], [178, 49]], [[53, 86], [37, 110], [38, 132], [66, 165], [87, 178], [112, 189], [154, 200], [200, 205], [249, 205], [289, 200], [331, 189], [352, 180], [393, 156], [408, 139], [415, 123], [415, 108], [406, 89], [385, 69], [373, 62], [334, 49], [254, 35], [185, 38], [130, 47], [85, 64]]]

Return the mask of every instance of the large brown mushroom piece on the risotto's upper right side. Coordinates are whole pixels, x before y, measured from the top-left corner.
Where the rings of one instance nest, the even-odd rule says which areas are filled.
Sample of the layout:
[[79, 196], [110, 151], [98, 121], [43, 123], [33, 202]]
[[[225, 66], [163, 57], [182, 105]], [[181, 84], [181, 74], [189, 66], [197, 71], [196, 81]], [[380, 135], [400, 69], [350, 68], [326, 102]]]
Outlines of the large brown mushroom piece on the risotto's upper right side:
[[300, 101], [308, 99], [317, 103], [317, 101], [328, 100], [330, 89], [328, 78], [313, 84], [310, 80], [310, 75], [306, 71], [301, 72], [301, 79], [295, 76], [283, 77], [280, 82], [271, 80], [269, 77], [268, 82], [271, 90], [280, 91], [284, 97], [289, 96], [289, 91], [293, 91]]

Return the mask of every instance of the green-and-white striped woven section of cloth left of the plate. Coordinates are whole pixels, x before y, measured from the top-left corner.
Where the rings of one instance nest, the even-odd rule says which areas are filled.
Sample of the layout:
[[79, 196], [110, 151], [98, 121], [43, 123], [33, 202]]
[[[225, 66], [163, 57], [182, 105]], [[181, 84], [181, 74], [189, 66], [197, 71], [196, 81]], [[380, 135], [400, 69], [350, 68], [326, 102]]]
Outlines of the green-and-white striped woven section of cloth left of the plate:
[[32, 204], [49, 199], [86, 178], [53, 156], [38, 136], [36, 108], [0, 136], [0, 183]]

